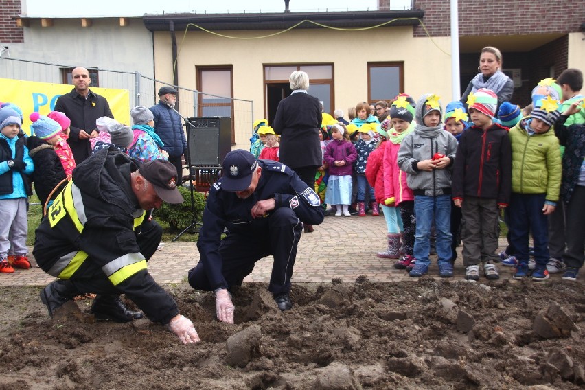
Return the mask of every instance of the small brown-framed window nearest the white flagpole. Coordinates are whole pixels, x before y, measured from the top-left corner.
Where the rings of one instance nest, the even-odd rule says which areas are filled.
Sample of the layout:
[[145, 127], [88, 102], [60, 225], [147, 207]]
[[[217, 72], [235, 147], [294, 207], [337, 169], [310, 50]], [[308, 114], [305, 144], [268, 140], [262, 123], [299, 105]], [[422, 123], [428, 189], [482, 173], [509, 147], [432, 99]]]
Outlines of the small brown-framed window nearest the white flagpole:
[[403, 62], [370, 62], [367, 65], [368, 102], [389, 101], [404, 92]]

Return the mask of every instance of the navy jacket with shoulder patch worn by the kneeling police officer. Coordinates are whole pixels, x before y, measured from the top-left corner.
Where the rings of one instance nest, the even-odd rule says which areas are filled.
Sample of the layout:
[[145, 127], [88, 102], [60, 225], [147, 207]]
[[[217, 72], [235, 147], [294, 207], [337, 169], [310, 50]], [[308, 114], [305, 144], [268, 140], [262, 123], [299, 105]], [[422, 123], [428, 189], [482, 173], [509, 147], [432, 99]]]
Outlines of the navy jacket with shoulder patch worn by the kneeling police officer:
[[258, 160], [258, 163], [262, 174], [255, 192], [249, 198], [240, 199], [235, 192], [223, 191], [222, 179], [209, 191], [197, 248], [211, 288], [227, 288], [219, 253], [224, 229], [227, 228], [229, 233], [252, 237], [268, 228], [266, 218], [270, 218], [274, 210], [268, 212], [266, 218], [252, 218], [252, 207], [259, 200], [275, 198], [275, 209], [288, 207], [306, 224], [319, 225], [323, 222], [325, 210], [319, 196], [293, 170], [272, 160]]

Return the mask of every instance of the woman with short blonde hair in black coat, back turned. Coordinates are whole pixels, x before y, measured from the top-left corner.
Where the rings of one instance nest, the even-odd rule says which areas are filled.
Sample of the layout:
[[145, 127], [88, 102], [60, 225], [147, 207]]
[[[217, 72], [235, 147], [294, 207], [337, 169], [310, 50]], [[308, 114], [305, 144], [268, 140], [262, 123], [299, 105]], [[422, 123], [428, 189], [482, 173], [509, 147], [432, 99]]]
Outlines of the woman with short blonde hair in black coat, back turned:
[[[297, 172], [302, 181], [314, 190], [317, 168], [323, 164], [319, 142], [321, 106], [319, 99], [307, 93], [309, 76], [294, 71], [288, 79], [292, 93], [278, 104], [272, 127], [281, 136], [279, 159]], [[305, 232], [312, 227], [305, 227]]]

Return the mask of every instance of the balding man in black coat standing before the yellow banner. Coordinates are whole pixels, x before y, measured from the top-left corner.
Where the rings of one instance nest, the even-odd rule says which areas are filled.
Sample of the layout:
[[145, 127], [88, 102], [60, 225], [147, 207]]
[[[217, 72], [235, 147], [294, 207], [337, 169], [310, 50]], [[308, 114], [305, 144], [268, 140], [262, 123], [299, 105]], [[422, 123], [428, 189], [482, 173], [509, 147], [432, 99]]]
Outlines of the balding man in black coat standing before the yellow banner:
[[91, 156], [89, 139], [98, 137], [95, 121], [101, 117], [113, 118], [114, 115], [106, 98], [90, 91], [91, 78], [87, 69], [76, 67], [71, 71], [71, 77], [75, 88], [57, 98], [55, 111], [65, 113], [71, 119], [67, 143], [76, 164], [80, 164]]

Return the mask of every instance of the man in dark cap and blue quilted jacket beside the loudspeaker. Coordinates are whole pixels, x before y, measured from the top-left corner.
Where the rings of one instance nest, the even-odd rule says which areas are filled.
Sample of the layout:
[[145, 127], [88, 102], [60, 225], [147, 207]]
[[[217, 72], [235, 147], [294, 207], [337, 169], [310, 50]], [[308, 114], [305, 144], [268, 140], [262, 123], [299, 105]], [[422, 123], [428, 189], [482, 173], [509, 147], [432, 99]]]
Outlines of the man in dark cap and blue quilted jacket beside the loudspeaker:
[[150, 111], [154, 115], [154, 132], [163, 141], [163, 149], [169, 155], [168, 161], [176, 168], [178, 182], [183, 183], [183, 154], [187, 156], [187, 139], [181, 117], [173, 109], [177, 93], [172, 87], [161, 87], [159, 104], [150, 107]]

